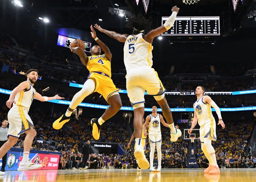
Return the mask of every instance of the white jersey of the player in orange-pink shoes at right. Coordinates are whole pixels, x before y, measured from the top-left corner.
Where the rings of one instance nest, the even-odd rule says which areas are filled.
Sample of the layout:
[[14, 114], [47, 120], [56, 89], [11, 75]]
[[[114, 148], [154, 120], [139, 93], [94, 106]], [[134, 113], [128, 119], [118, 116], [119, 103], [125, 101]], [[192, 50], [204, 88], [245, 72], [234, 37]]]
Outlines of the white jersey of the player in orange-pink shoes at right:
[[198, 124], [202, 126], [208, 122], [215, 122], [215, 119], [212, 115], [212, 110], [210, 104], [203, 102], [204, 96], [199, 98], [193, 105], [195, 113], [198, 117]]

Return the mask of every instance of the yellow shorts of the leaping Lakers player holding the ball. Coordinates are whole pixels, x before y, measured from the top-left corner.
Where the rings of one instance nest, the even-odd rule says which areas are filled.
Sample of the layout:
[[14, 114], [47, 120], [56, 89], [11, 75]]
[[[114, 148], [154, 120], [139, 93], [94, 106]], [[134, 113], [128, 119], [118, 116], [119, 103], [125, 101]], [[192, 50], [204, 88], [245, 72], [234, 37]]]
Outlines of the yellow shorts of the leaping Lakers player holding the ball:
[[94, 92], [101, 94], [108, 103], [108, 98], [114, 93], [118, 92], [120, 89], [116, 88], [116, 85], [113, 83], [112, 79], [108, 76], [92, 72], [88, 76], [88, 79], [92, 78], [96, 81], [96, 87]]

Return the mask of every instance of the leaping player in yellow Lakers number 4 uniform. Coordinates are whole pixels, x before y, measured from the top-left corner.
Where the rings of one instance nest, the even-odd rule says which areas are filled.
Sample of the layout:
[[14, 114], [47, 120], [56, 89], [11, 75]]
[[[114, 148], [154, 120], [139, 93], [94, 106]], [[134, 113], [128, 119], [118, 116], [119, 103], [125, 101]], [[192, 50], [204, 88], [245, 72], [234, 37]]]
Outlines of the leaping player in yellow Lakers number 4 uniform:
[[[83, 88], [73, 97], [66, 113], [57, 119], [52, 126], [54, 129], [61, 129], [64, 123], [69, 121], [73, 110], [77, 108], [83, 99], [92, 92], [98, 92], [106, 99], [107, 103], [110, 104], [100, 118], [93, 118], [91, 120], [92, 135], [95, 140], [98, 140], [100, 137], [101, 125], [120, 110], [122, 103], [118, 93], [120, 89], [116, 88], [111, 79], [112, 54], [107, 45], [97, 38], [96, 32], [92, 26], [91, 30], [92, 38], [94, 38], [95, 41], [100, 45], [94, 45], [92, 47], [92, 56], [87, 56], [81, 47], [70, 47], [71, 51], [80, 57], [81, 62], [89, 70], [90, 74], [88, 79], [85, 81]], [[101, 48], [105, 53], [103, 55], [101, 55]]]

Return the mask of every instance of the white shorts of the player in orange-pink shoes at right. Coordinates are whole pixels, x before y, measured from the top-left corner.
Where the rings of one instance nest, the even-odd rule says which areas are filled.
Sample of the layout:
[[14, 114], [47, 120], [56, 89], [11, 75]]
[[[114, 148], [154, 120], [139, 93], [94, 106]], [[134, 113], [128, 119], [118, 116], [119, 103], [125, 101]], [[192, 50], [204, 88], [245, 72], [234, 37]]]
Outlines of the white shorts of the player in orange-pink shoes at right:
[[200, 126], [199, 133], [200, 133], [201, 143], [203, 143], [204, 138], [207, 138], [208, 136], [210, 136], [213, 141], [216, 141], [217, 137], [216, 137], [216, 122], [215, 122], [215, 120], [213, 120], [211, 122], [207, 122], [207, 123], [203, 124], [202, 126]]

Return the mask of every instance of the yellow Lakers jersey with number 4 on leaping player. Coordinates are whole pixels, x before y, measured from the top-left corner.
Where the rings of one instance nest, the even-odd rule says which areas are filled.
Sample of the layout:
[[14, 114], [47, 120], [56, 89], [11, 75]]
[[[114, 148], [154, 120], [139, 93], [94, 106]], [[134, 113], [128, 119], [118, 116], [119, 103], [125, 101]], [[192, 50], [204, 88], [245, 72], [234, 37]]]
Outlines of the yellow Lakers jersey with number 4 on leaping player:
[[103, 72], [111, 78], [111, 63], [105, 54], [89, 56], [86, 67], [90, 73]]

